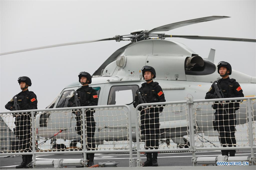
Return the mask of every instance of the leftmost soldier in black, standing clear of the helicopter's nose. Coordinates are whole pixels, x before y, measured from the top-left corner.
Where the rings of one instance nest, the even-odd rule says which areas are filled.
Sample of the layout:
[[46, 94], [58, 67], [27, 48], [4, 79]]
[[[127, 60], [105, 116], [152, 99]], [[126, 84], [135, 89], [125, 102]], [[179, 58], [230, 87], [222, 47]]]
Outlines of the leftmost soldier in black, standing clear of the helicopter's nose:
[[[28, 91], [28, 87], [32, 85], [30, 78], [23, 76], [18, 78], [20, 89], [19, 94], [15, 95], [11, 101], [9, 101], [5, 108], [11, 111], [14, 110], [30, 110], [37, 109], [36, 94], [32, 91]], [[19, 147], [22, 152], [32, 152], [31, 142], [31, 113], [16, 113], [15, 128], [13, 129], [16, 137], [19, 139]], [[33, 168], [32, 154], [22, 155], [22, 162], [16, 168]]]

